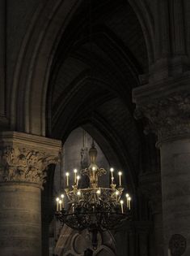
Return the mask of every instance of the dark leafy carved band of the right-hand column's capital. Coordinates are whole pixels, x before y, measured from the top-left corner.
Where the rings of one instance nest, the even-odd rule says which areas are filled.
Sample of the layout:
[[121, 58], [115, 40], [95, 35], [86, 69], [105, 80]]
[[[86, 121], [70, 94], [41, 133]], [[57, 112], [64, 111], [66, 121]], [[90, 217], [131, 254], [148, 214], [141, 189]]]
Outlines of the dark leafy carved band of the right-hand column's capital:
[[156, 98], [137, 106], [135, 117], [145, 116], [149, 123], [145, 132], [154, 132], [158, 141], [190, 134], [190, 93]]

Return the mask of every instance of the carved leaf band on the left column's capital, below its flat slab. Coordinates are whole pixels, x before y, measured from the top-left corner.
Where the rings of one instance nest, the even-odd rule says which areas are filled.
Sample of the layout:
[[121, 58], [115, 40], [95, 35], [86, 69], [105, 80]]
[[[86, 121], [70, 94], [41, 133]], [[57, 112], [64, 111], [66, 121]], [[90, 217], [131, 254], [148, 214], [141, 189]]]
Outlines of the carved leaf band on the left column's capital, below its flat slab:
[[45, 152], [6, 146], [0, 150], [0, 182], [32, 182], [42, 186], [45, 169], [59, 158]]

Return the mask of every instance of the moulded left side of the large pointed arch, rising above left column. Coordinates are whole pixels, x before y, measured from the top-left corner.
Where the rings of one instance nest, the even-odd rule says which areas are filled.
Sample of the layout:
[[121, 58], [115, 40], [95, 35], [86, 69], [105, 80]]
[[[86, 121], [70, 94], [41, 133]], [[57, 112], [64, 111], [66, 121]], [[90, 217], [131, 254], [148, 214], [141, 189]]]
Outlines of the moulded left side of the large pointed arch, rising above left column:
[[[33, 15], [15, 67], [11, 106], [8, 110], [11, 129], [45, 135], [45, 102], [53, 55], [66, 25], [81, 2], [45, 2]], [[152, 42], [147, 34], [145, 38]], [[150, 46], [148, 52], [152, 48]]]

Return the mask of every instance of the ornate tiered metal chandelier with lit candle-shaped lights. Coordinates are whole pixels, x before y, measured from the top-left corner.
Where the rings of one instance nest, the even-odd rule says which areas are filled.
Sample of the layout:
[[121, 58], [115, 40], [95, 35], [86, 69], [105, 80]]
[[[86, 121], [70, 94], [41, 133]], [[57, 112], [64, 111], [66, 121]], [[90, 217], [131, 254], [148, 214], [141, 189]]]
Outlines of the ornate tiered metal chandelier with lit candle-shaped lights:
[[56, 198], [56, 217], [62, 224], [78, 231], [88, 229], [92, 233], [92, 245], [97, 247], [97, 233], [118, 227], [120, 221], [129, 219], [131, 197], [126, 193], [122, 199], [124, 188], [121, 183], [122, 172], [118, 172], [119, 185], [115, 183], [114, 169], [111, 168], [110, 188], [99, 187], [99, 177], [107, 173], [96, 165], [97, 150], [94, 141], [89, 150], [91, 164], [80, 171], [81, 176], [88, 176], [89, 186], [84, 189], [78, 187], [80, 176], [74, 169], [74, 183], [70, 186], [70, 173], [66, 172], [65, 194]]

